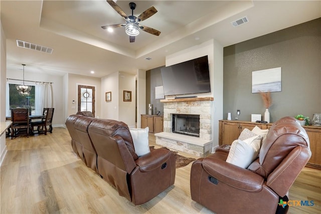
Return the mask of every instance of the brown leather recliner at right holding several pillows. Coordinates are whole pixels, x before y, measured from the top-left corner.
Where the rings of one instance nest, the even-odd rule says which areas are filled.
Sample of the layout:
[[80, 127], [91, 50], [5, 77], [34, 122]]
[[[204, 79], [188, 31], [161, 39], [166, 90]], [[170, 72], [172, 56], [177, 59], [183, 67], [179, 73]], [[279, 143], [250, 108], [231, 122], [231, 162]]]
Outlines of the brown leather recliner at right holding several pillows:
[[294, 118], [284, 117], [270, 127], [247, 169], [226, 162], [227, 156], [218, 149], [193, 163], [192, 199], [216, 213], [275, 213], [311, 152], [305, 130]]

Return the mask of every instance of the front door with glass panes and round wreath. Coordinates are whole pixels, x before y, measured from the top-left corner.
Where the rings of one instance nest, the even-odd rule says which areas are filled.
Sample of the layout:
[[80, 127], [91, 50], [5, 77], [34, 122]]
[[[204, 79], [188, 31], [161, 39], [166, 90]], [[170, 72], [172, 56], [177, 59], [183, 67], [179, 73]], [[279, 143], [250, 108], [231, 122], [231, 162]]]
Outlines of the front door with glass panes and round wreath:
[[78, 111], [91, 111], [95, 116], [95, 87], [78, 85]]

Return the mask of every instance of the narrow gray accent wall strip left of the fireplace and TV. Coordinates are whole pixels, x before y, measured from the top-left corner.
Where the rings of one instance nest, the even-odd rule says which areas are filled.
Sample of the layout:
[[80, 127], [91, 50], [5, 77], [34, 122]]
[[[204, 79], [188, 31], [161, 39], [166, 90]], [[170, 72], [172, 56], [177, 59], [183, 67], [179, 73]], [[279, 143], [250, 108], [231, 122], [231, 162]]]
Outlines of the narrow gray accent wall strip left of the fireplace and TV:
[[153, 107], [152, 114], [156, 115], [157, 111], [164, 114], [164, 104], [161, 103], [160, 99], [155, 99], [155, 87], [163, 86], [161, 68], [154, 68], [146, 71], [146, 114], [148, 114], [148, 104], [150, 103]]

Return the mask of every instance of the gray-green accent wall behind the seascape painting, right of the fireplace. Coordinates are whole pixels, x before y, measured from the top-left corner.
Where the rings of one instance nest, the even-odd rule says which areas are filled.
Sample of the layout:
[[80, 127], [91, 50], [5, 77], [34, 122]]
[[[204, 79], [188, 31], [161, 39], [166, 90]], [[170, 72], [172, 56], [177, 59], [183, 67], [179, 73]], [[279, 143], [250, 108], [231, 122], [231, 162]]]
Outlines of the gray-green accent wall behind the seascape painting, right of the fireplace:
[[[282, 91], [272, 92], [270, 122], [321, 113], [321, 18], [224, 48], [223, 118], [251, 120], [265, 107], [252, 94], [252, 72], [281, 67]], [[264, 118], [262, 118], [264, 119]]]

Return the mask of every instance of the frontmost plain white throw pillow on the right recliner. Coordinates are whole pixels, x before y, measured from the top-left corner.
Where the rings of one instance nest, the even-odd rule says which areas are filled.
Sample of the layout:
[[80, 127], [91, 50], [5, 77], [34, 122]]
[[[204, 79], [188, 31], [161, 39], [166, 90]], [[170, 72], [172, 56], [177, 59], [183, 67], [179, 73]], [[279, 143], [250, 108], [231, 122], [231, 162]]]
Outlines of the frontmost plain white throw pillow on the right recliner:
[[247, 168], [259, 154], [261, 137], [254, 136], [246, 140], [234, 140], [226, 162]]

